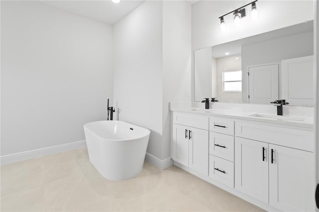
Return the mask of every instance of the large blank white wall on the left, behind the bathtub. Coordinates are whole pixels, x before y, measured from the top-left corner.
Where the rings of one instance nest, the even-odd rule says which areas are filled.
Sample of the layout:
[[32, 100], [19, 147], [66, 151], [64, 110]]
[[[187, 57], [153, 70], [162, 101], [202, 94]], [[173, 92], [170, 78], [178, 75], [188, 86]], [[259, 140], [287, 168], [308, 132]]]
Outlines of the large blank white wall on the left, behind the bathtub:
[[113, 97], [112, 26], [1, 1], [1, 155], [84, 140]]

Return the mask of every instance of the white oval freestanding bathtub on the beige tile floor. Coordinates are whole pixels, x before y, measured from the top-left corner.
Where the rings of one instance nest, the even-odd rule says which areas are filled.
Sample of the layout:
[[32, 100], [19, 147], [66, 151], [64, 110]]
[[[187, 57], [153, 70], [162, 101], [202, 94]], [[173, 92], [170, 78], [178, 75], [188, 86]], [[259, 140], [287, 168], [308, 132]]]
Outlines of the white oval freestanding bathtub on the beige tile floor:
[[143, 168], [150, 130], [124, 121], [84, 124], [89, 159], [108, 180], [137, 176]]

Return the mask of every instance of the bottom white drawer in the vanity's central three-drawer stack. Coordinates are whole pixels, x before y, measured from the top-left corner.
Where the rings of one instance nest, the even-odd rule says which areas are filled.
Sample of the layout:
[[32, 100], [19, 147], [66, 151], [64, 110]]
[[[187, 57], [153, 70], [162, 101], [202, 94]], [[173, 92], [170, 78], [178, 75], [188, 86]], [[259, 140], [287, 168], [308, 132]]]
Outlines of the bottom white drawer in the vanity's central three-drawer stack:
[[234, 188], [234, 163], [209, 155], [209, 177]]

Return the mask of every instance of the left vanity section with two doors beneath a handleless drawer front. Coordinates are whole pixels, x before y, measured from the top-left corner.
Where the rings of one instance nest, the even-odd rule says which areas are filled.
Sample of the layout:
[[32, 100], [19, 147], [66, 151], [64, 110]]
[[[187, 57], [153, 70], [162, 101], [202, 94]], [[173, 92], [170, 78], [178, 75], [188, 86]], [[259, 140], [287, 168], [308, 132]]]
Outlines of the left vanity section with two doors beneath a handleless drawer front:
[[173, 113], [171, 157], [208, 176], [208, 117]]

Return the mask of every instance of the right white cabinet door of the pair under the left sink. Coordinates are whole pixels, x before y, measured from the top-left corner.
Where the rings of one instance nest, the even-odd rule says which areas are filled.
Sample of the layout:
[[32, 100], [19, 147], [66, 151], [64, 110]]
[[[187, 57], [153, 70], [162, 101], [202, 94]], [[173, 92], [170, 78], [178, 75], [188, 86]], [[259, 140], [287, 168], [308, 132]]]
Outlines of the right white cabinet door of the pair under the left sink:
[[189, 167], [208, 176], [208, 131], [189, 127]]

